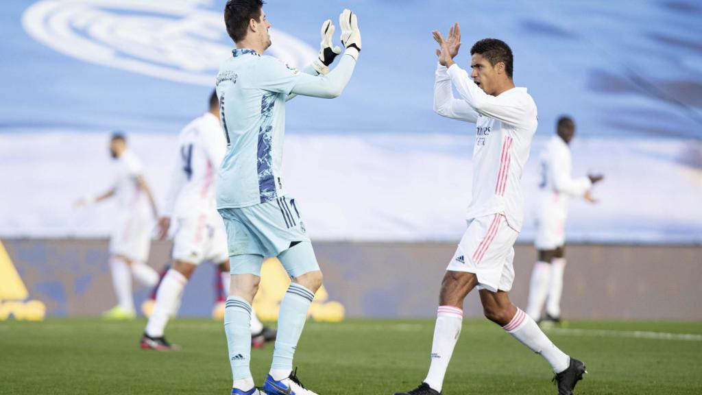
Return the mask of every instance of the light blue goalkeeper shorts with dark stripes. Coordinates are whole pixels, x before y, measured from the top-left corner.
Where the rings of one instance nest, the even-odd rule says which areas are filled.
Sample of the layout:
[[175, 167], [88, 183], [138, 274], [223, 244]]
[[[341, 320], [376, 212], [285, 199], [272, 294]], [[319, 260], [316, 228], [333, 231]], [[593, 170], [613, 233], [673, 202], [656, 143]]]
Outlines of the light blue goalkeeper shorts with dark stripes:
[[[260, 205], [219, 209], [218, 211], [227, 229], [227, 244], [232, 262], [232, 258], [239, 255], [278, 257], [293, 245], [310, 243], [310, 236], [307, 235], [294, 199], [278, 197]], [[303, 248], [303, 250], [307, 250], [307, 248]], [[313, 252], [311, 257], [305, 257], [304, 260], [304, 263], [300, 262], [300, 265], [304, 267], [299, 268], [296, 272], [319, 270]], [[255, 269], [245, 272], [251, 273], [252, 271]], [[235, 273], [233, 267], [232, 273], [238, 274]], [[260, 273], [260, 267], [258, 273]]]

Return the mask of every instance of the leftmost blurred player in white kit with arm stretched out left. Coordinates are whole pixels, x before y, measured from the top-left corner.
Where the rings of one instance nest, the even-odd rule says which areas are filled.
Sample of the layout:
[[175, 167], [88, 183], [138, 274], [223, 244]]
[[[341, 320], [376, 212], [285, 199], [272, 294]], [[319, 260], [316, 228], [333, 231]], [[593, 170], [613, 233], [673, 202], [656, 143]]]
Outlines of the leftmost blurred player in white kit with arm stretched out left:
[[112, 135], [110, 155], [115, 161], [112, 188], [94, 199], [79, 200], [76, 207], [117, 197], [118, 211], [110, 237], [110, 272], [118, 304], [103, 316], [133, 319], [136, 312], [131, 276], [150, 287], [159, 281], [159, 274], [146, 264], [157, 208], [151, 188], [144, 179], [141, 161], [127, 149], [124, 134], [117, 132]]

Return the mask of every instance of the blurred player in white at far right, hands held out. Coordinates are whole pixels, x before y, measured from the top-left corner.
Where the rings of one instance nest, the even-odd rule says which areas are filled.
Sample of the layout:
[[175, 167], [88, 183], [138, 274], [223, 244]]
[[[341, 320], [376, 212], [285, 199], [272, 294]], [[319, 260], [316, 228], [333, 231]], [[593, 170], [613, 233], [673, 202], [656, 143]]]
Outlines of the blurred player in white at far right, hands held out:
[[[565, 222], [568, 201], [571, 197], [583, 197], [595, 202], [590, 195], [592, 184], [602, 180], [601, 175], [571, 178], [571, 152], [569, 143], [575, 135], [575, 122], [569, 117], [560, 117], [556, 124], [556, 135], [546, 143], [539, 164], [541, 181], [538, 188], [536, 211], [536, 240], [538, 261], [531, 271], [529, 283], [529, 305], [527, 314], [536, 322], [559, 323], [561, 320], [561, 293], [565, 259]], [[541, 317], [546, 303], [545, 317]]]

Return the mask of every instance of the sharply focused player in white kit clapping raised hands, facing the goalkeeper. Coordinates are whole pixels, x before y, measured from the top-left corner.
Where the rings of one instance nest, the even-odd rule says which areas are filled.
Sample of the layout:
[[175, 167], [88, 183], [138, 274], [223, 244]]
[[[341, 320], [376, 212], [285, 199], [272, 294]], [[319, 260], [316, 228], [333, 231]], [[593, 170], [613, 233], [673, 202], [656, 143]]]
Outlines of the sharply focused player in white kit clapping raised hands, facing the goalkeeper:
[[[472, 198], [468, 228], [446, 268], [430, 355], [429, 373], [407, 393], [437, 395], [463, 323], [463, 300], [477, 286], [486, 318], [540, 354], [555, 373], [559, 394], [571, 394], [585, 365], [570, 358], [543, 334], [534, 320], [510, 302], [514, 280], [513, 245], [522, 228], [522, 170], [538, 123], [536, 104], [512, 82], [512, 51], [498, 39], [482, 39], [470, 50], [472, 72], [453, 62], [461, 46], [458, 23], [448, 39], [434, 32], [437, 50], [434, 110], [475, 123]], [[471, 80], [472, 78], [472, 80]], [[453, 97], [456, 88], [461, 98]]]

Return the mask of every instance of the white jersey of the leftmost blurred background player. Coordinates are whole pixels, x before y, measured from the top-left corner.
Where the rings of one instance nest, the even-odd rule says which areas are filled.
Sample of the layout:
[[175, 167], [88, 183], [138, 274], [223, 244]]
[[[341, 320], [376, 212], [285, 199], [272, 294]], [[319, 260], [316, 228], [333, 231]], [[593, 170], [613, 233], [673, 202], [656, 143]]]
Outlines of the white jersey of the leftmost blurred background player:
[[115, 163], [114, 193], [121, 216], [150, 215], [150, 202], [138, 179], [143, 174], [139, 158], [125, 150]]

